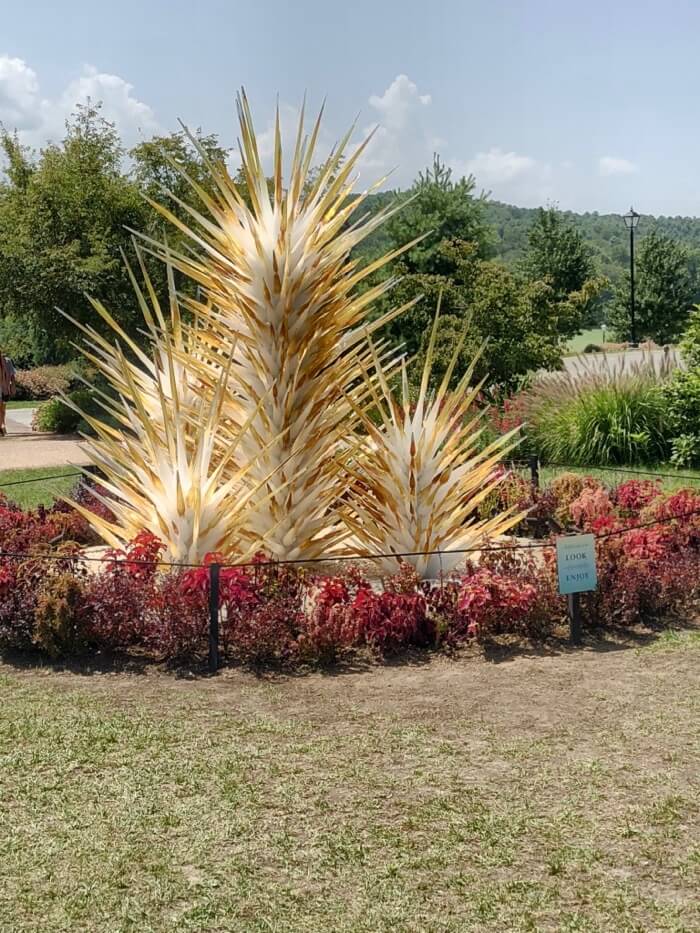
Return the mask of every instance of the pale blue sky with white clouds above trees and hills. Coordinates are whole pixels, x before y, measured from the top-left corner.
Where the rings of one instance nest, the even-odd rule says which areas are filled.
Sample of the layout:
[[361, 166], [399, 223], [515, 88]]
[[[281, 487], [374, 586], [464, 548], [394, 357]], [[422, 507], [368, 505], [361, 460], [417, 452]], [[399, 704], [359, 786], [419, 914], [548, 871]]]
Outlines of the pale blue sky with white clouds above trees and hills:
[[[700, 216], [697, 0], [32, 0], [2, 4], [0, 122], [41, 147], [76, 102], [125, 142], [188, 126], [234, 150], [245, 86], [269, 156], [307, 95], [321, 149], [378, 125], [358, 187], [439, 152], [523, 207]], [[359, 114], [359, 116], [358, 116]]]

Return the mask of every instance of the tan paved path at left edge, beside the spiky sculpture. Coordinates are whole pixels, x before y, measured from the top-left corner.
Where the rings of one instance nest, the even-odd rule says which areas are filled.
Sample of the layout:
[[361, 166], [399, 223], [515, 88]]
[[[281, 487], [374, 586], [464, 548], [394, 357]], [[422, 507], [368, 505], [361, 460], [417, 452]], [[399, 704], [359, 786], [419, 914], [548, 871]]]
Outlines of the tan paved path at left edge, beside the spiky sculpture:
[[13, 408], [7, 412], [7, 437], [0, 437], [0, 470], [90, 462], [82, 442], [74, 435], [32, 434], [33, 414], [33, 408]]

